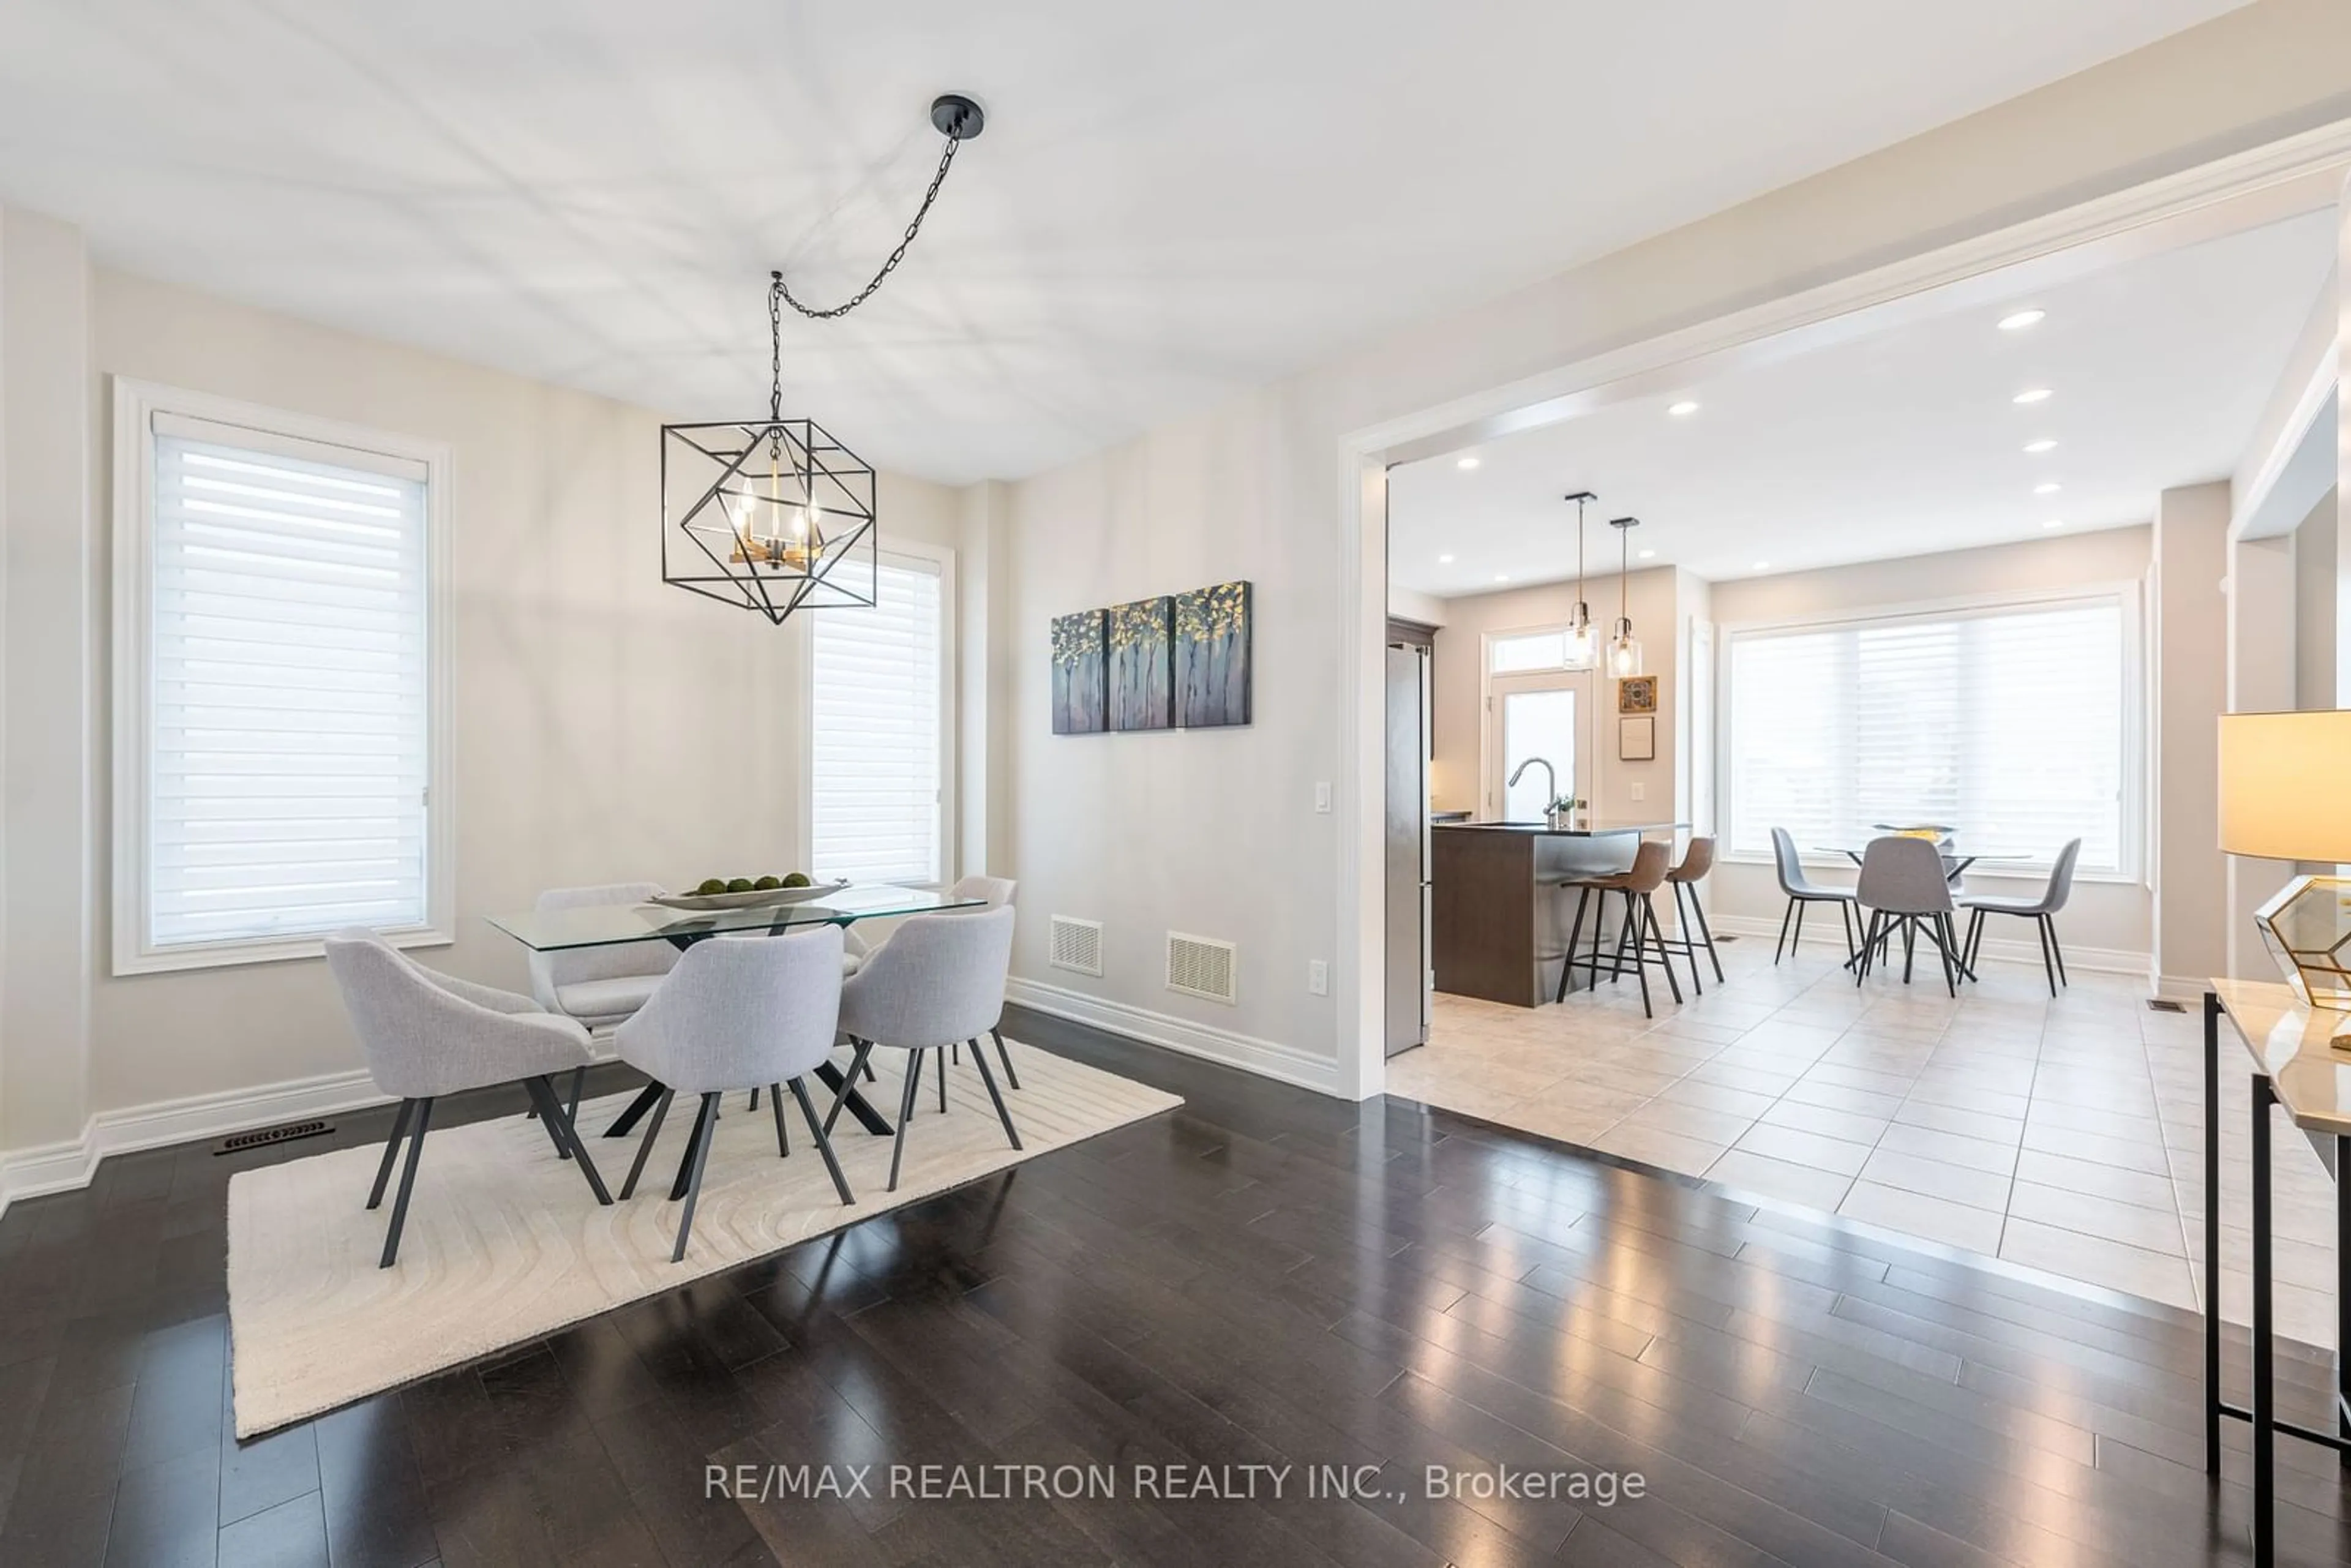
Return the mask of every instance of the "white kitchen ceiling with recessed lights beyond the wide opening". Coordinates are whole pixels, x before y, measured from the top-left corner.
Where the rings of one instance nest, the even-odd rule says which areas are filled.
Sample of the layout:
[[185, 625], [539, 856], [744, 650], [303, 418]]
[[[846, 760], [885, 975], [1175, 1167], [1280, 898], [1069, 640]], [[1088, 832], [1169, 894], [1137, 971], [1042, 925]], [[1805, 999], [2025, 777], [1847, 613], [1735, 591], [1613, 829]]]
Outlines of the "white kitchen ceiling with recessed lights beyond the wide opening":
[[[1528, 430], [1474, 470], [1408, 463], [1389, 574], [1439, 597], [1575, 576], [1578, 489], [1594, 524], [1641, 517], [1648, 564], [1707, 578], [2146, 522], [2158, 491], [2233, 473], [2332, 263], [2313, 212]], [[2022, 308], [2048, 317], [2001, 331]], [[2017, 407], [2027, 388], [2052, 397]], [[1589, 548], [1615, 571], [1615, 534]]]

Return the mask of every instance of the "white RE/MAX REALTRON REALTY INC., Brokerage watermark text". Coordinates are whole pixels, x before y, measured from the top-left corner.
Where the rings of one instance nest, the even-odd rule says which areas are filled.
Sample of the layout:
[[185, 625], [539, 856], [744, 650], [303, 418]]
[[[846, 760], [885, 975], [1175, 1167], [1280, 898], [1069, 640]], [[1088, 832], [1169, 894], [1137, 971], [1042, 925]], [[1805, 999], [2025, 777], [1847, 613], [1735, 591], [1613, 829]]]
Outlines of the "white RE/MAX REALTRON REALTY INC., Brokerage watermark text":
[[1053, 1502], [1072, 1497], [1281, 1500], [1516, 1497], [1613, 1507], [1648, 1495], [1641, 1472], [1385, 1465], [705, 1465], [705, 1497], [900, 1497], [917, 1502]]

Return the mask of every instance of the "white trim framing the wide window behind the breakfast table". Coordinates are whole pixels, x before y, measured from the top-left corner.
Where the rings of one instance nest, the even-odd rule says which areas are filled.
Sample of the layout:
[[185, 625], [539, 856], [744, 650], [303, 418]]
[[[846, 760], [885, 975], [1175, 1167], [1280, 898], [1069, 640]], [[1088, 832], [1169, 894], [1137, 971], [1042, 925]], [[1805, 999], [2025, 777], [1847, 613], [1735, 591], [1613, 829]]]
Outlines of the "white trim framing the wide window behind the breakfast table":
[[[1780, 616], [1773, 621], [1737, 621], [1714, 628], [1714, 658], [1716, 658], [1716, 703], [1714, 703], [1714, 818], [1716, 823], [1730, 823], [1735, 811], [1733, 790], [1733, 757], [1730, 757], [1730, 712], [1737, 701], [1733, 689], [1733, 646], [1740, 637], [1759, 637], [1775, 632], [1801, 632], [1820, 628], [1841, 625], [1890, 625], [1900, 621], [1933, 621], [1940, 616], [1956, 614], [1984, 614], [2001, 609], [2034, 609], [2045, 604], [2083, 604], [2095, 599], [2116, 599], [2123, 607], [2123, 823], [2121, 823], [2121, 853], [2123, 865], [2106, 872], [2078, 872], [2074, 882], [2104, 882], [2123, 886], [2149, 886], [2151, 856], [2146, 853], [2146, 799], [2149, 799], [2149, 769], [2154, 757], [2149, 755], [2146, 736], [2146, 585], [2142, 578], [2121, 578], [2102, 583], [2069, 583], [2062, 588], [2041, 588], [2024, 592], [1980, 592], [1980, 595], [1956, 595], [1947, 599], [1909, 599], [1902, 604], [1874, 604], [1869, 609], [1848, 611], [1820, 611], [1813, 616]], [[1820, 853], [1810, 844], [1796, 849], [1803, 865], [1843, 867], [1853, 870], [1848, 856]], [[1721, 856], [1728, 865], [1770, 865], [1768, 853], [1730, 853]], [[2022, 879], [2022, 882], [2048, 882], [2048, 860], [2003, 860], [1998, 865], [1980, 863], [1968, 867], [1972, 882], [1998, 882], [1998, 879]]]

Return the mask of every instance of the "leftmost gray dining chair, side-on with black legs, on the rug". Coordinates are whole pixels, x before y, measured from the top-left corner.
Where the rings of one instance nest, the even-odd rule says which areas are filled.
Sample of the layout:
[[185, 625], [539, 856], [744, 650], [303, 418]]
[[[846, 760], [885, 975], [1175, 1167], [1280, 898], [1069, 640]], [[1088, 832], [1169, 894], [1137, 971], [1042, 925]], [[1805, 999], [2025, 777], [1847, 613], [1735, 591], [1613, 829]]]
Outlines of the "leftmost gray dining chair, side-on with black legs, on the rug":
[[548, 1081], [555, 1072], [588, 1063], [588, 1030], [576, 1018], [545, 1013], [534, 999], [515, 992], [423, 969], [364, 929], [327, 938], [327, 971], [343, 992], [350, 1027], [360, 1034], [367, 1074], [383, 1093], [400, 1095], [393, 1135], [383, 1143], [376, 1185], [367, 1194], [369, 1208], [383, 1204], [383, 1185], [393, 1175], [400, 1140], [409, 1140], [379, 1267], [388, 1269], [400, 1258], [400, 1229], [409, 1220], [409, 1194], [416, 1190], [426, 1128], [433, 1126], [433, 1103], [465, 1088], [520, 1081], [548, 1138], [555, 1140], [555, 1152], [578, 1161], [597, 1204], [611, 1204], [604, 1178], [588, 1159], [588, 1145], [581, 1143], [578, 1128]]

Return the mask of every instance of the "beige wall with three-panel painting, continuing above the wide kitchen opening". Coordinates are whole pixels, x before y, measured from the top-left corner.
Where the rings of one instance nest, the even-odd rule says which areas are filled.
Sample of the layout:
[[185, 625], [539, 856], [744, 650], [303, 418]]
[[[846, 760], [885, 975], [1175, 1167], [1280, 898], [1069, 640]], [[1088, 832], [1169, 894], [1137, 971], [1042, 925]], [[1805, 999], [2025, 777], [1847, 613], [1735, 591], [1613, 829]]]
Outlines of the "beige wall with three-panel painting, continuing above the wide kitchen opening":
[[[1340, 1060], [1333, 997], [1359, 1018], [1357, 997], [1378, 976], [1354, 971], [1340, 844], [1333, 818], [1312, 809], [1314, 783], [1357, 757], [1345, 750], [1342, 762], [1340, 649], [1357, 632], [1340, 625], [1335, 569], [1347, 433], [2344, 115], [2351, 7], [2264, 0], [1020, 482], [1011, 743], [1023, 907], [1107, 919], [1112, 966], [1100, 980], [1049, 969], [1044, 919], [1032, 917], [1016, 976], [1051, 987], [1032, 999], [1357, 1091], [1366, 1067]], [[1253, 729], [1046, 733], [1049, 614], [1220, 576], [1258, 583]], [[1354, 849], [1349, 839], [1349, 865]], [[1239, 943], [1241, 1006], [1164, 990], [1157, 943], [1168, 926]], [[1333, 961], [1333, 997], [1307, 992], [1317, 957]]]

